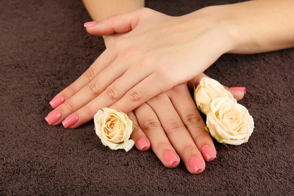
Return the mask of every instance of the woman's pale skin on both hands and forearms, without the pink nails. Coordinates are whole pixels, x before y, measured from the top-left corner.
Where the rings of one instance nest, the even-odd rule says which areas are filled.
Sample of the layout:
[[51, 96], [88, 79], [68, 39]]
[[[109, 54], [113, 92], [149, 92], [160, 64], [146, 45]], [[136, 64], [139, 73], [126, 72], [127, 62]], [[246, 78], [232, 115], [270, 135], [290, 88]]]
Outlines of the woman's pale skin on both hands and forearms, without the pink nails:
[[[109, 9], [115, 13], [109, 15], [128, 13], [109, 18], [107, 9], [95, 11], [99, 1], [84, 1], [93, 20], [100, 21], [88, 25], [87, 31], [104, 35], [107, 49], [89, 70], [58, 94], [65, 97], [65, 102], [54, 109], [61, 117], [52, 124], [60, 124], [74, 114], [78, 121], [70, 128], [75, 128], [92, 120], [101, 107], [119, 108], [125, 113], [136, 108], [138, 122], [132, 113], [129, 115], [142, 128], [133, 134], [134, 141], [147, 141], [147, 147], [141, 150], [151, 144], [165, 166], [175, 167], [181, 158], [191, 173], [203, 171], [191, 167], [191, 158], [198, 157], [204, 166], [207, 157], [201, 148], [205, 144], [215, 148], [209, 134], [197, 129], [203, 122], [192, 98], [188, 99], [186, 85], [181, 84], [193, 78], [190, 84], [196, 84], [205, 76], [202, 72], [223, 53], [256, 53], [294, 46], [293, 0], [212, 6], [181, 17], [147, 8], [138, 10], [144, 5], [140, 0], [123, 1], [132, 4], [125, 6], [130, 10], [124, 10], [118, 0]], [[174, 96], [174, 92], [187, 96]], [[237, 99], [244, 95], [243, 91], [231, 92]], [[178, 103], [185, 104], [179, 107]], [[162, 113], [163, 105], [166, 113]], [[186, 107], [189, 112], [181, 110]], [[187, 121], [187, 117], [193, 118]], [[138, 143], [136, 147], [140, 149]], [[172, 151], [177, 160], [167, 161], [166, 151]]]

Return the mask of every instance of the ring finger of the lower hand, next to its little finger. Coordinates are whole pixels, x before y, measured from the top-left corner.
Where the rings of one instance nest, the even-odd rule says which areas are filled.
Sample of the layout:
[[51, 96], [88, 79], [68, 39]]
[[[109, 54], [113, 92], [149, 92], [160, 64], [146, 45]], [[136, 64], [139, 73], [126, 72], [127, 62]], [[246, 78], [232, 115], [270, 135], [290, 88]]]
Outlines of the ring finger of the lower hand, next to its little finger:
[[151, 143], [151, 148], [160, 161], [168, 168], [174, 168], [180, 159], [167, 138], [159, 120], [150, 106], [143, 103], [134, 110], [140, 127]]

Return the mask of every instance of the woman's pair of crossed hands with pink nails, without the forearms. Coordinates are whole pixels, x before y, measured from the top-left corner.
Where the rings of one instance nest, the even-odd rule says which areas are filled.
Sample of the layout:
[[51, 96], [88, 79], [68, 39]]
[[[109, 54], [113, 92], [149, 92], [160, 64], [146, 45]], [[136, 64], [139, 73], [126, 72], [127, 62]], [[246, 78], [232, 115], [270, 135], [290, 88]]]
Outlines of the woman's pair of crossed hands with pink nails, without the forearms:
[[[129, 112], [131, 120], [140, 125], [132, 134], [139, 150], [151, 146], [166, 167], [176, 167], [181, 158], [189, 172], [202, 172], [204, 160], [213, 160], [216, 149], [210, 135], [199, 128], [204, 122], [187, 85], [181, 83], [198, 75], [189, 82], [197, 85], [205, 76], [201, 72], [224, 52], [216, 46], [218, 43], [204, 42], [211, 41], [207, 39], [209, 34], [215, 35], [213, 29], [193, 32], [195, 39], [174, 39], [185, 34], [171, 28], [177, 25], [185, 30], [181, 20], [145, 8], [85, 25], [93, 35], [106, 35], [107, 49], [73, 84], [50, 101], [55, 109], [46, 117], [47, 122], [53, 125], [62, 122], [66, 128], [75, 128], [92, 120], [102, 107], [119, 108]], [[156, 43], [156, 40], [160, 41]], [[191, 47], [196, 43], [200, 50], [191, 56]], [[244, 96], [244, 91], [230, 91], [237, 99]]]

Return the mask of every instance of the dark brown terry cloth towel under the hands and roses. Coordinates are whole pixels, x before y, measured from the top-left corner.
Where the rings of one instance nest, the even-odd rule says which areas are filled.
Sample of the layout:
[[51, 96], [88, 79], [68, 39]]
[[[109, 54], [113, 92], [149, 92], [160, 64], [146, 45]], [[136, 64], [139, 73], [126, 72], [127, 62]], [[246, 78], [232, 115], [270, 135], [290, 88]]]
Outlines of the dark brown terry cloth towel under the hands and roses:
[[[235, 0], [146, 0], [180, 16]], [[0, 195], [294, 195], [294, 49], [225, 54], [206, 73], [245, 86], [240, 101], [255, 120], [249, 142], [227, 149], [198, 175], [168, 169], [152, 150], [103, 147], [94, 123], [49, 126], [49, 101], [103, 52], [79, 0], [0, 3]], [[197, 59], [195, 59], [197, 64]]]

